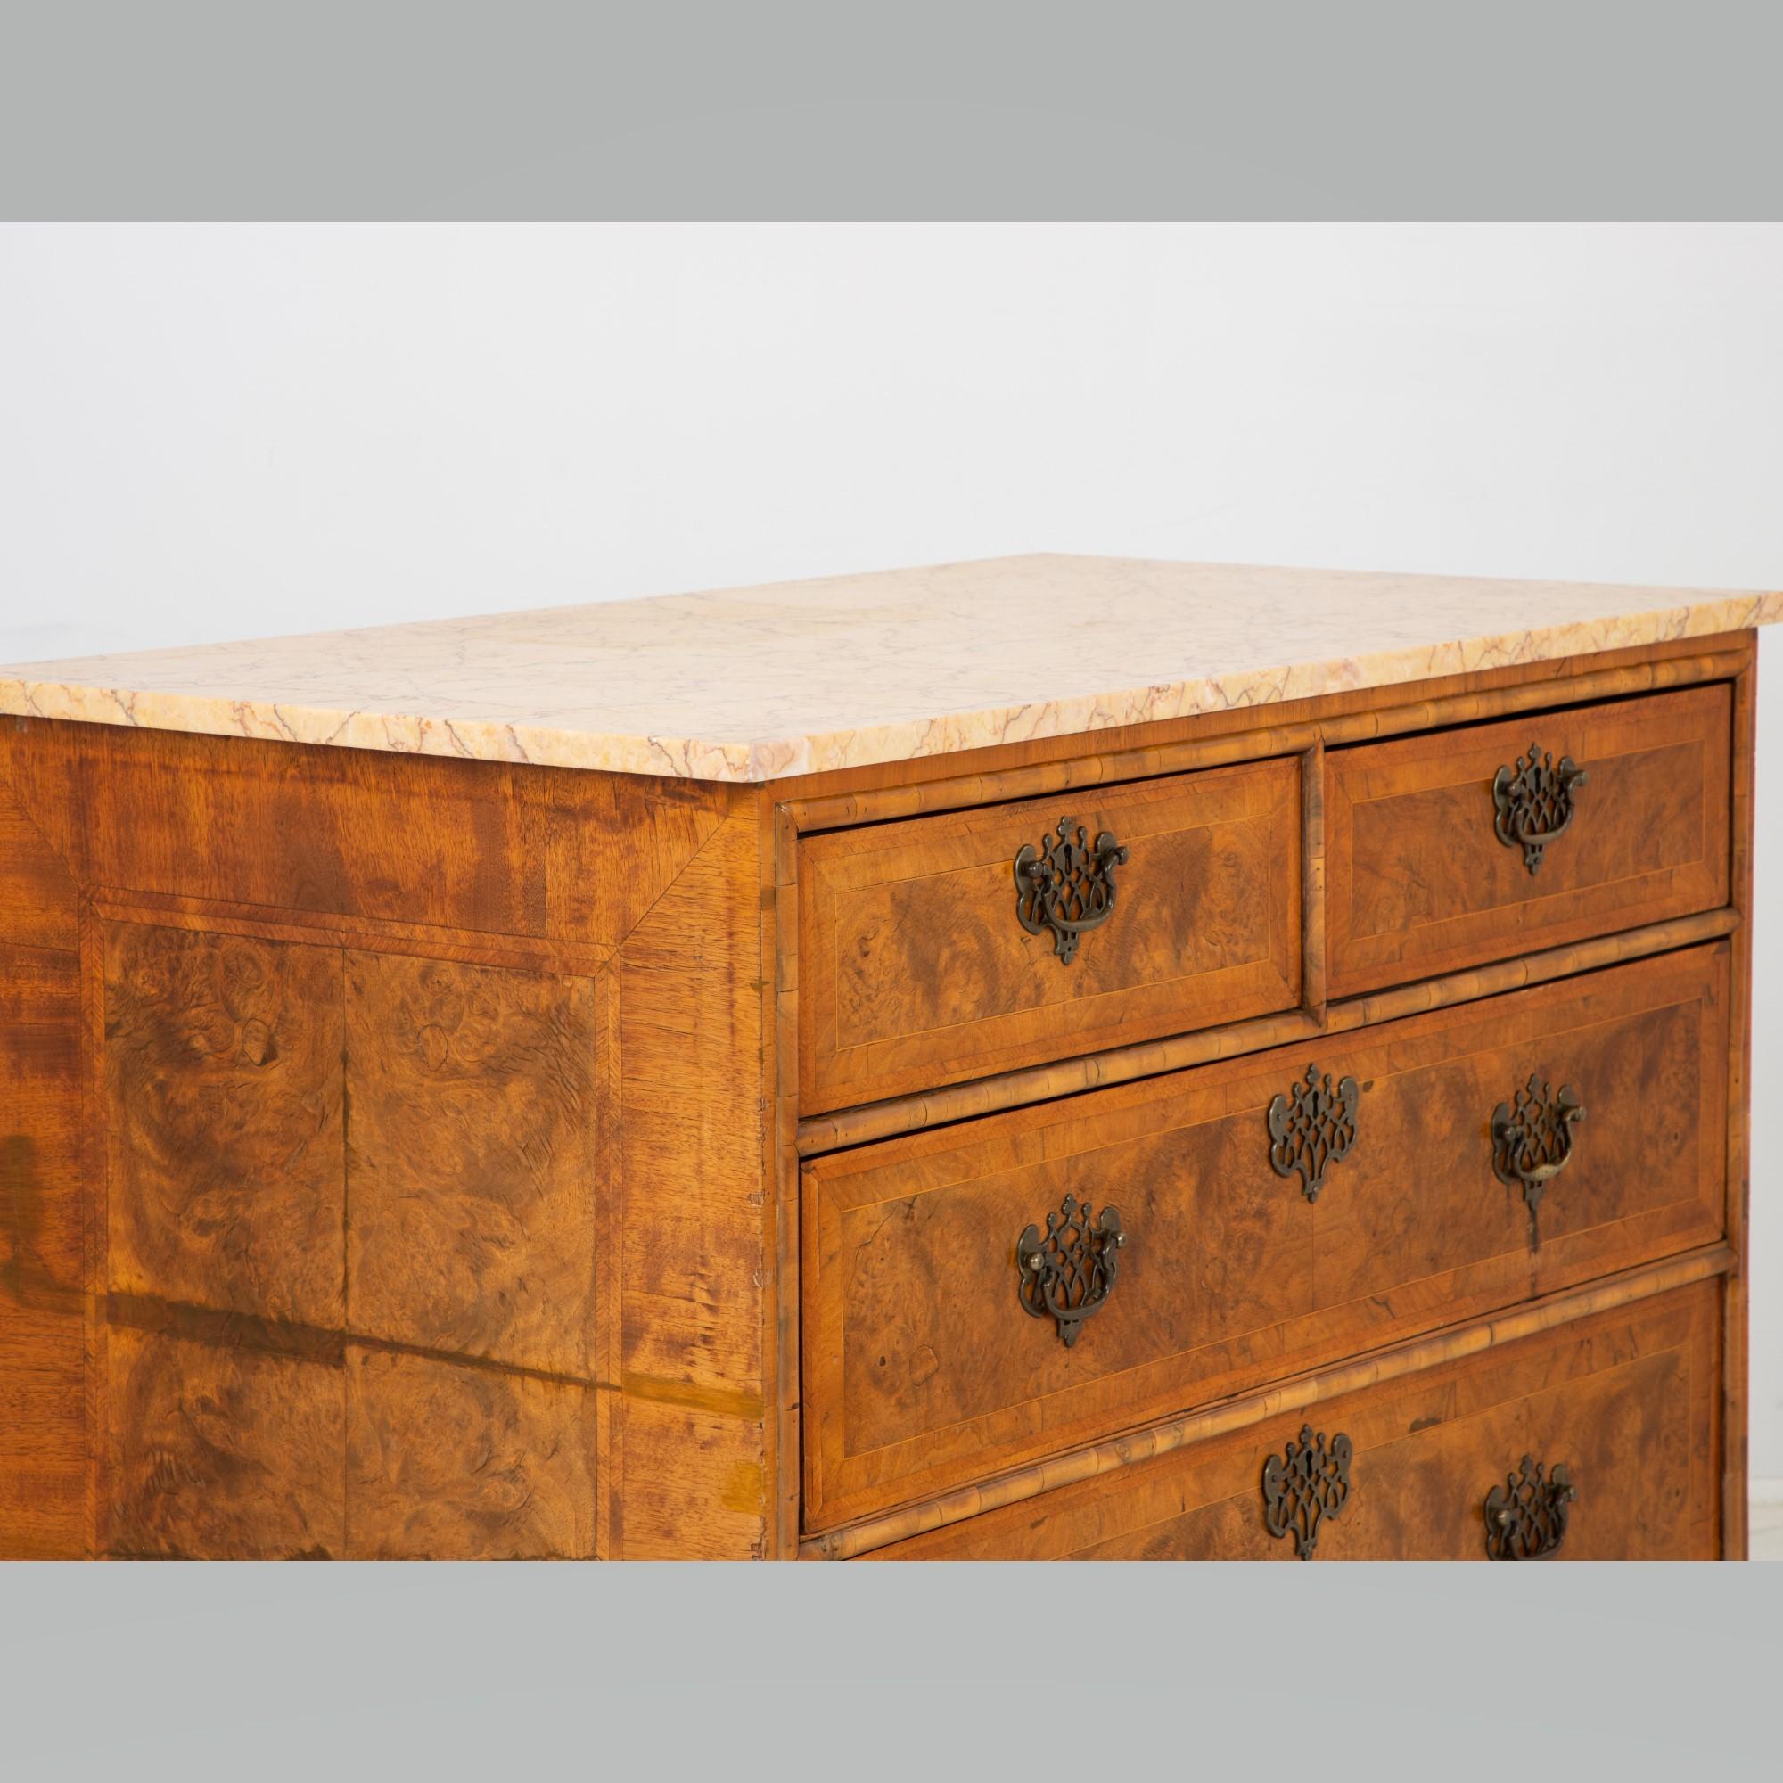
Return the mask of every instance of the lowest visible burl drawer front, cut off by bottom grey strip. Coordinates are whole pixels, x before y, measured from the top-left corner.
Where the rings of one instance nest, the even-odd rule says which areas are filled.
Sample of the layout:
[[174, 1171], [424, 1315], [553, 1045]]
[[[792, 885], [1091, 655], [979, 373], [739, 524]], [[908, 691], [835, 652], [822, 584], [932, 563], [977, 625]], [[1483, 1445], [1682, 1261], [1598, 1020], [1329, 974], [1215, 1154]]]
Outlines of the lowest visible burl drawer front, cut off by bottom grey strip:
[[1719, 1353], [1699, 1282], [867, 1558], [1712, 1560]]

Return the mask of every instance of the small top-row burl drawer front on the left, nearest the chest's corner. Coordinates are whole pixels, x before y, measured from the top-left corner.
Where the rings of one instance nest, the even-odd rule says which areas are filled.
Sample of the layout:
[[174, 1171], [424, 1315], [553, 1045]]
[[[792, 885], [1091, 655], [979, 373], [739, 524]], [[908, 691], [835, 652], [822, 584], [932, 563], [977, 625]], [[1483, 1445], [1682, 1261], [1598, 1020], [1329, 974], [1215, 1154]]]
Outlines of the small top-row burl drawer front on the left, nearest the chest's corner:
[[[1016, 858], [1125, 858], [1104, 920], [1029, 933]], [[1098, 858], [1100, 859], [1100, 858]], [[1091, 911], [1091, 920], [1095, 913]], [[1293, 1007], [1300, 758], [831, 831], [799, 850], [804, 1113]]]

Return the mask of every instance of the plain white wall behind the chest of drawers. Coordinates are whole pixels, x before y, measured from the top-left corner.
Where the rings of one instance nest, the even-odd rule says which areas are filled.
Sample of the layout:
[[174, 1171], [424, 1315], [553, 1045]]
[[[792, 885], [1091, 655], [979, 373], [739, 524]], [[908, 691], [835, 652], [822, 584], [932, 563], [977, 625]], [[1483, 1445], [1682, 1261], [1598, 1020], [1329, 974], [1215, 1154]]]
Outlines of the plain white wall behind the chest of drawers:
[[1778, 588], [1779, 314], [1767, 225], [14, 225], [0, 661], [1036, 549]]

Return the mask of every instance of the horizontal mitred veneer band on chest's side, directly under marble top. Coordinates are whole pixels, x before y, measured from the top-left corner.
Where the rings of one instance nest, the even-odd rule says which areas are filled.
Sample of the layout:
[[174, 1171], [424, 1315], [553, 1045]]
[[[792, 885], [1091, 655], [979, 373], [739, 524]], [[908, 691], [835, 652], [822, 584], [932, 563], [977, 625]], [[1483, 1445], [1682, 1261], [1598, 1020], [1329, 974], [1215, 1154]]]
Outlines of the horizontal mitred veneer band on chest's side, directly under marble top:
[[731, 793], [695, 781], [25, 720], [12, 797], [86, 892], [617, 945]]

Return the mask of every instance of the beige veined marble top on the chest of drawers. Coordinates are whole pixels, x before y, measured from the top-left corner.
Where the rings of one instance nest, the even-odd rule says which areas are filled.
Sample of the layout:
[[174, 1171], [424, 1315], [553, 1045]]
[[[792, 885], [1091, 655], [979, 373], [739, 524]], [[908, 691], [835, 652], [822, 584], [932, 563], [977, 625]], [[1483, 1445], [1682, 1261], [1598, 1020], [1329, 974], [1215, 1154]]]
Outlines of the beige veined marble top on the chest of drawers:
[[1016, 556], [0, 669], [0, 713], [685, 779], [1703, 637], [1783, 592]]

